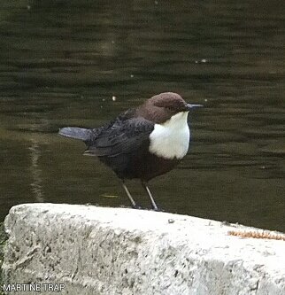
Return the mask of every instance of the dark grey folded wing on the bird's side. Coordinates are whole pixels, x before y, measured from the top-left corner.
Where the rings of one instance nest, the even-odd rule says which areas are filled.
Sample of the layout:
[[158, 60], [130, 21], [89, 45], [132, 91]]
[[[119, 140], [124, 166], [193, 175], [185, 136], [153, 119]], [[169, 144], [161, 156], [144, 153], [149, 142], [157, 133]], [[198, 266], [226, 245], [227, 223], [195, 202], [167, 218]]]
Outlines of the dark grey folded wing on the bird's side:
[[143, 118], [116, 120], [112, 126], [104, 129], [92, 143], [85, 154], [91, 156], [114, 157], [135, 151], [149, 140], [154, 123]]

